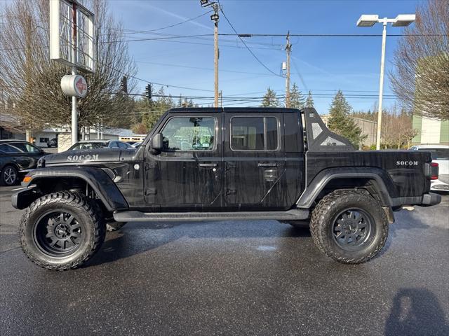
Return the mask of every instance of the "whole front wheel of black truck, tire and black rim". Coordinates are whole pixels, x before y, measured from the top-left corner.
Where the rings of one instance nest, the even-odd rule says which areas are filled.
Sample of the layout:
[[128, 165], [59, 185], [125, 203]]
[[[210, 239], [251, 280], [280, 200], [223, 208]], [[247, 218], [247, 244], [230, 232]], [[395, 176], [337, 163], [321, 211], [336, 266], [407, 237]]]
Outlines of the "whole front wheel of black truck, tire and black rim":
[[58, 192], [33, 202], [20, 221], [27, 257], [47, 269], [65, 270], [89, 260], [105, 240], [105, 223], [79, 193]]

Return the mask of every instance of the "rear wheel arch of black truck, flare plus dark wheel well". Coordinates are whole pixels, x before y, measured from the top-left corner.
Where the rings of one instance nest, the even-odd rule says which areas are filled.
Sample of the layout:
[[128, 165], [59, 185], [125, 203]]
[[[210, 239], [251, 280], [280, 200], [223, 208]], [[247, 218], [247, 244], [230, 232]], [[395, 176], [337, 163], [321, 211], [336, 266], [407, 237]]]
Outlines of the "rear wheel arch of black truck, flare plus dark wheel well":
[[392, 198], [396, 197], [396, 188], [391, 178], [382, 169], [371, 167], [324, 169], [309, 183], [297, 200], [298, 208], [312, 207], [328, 193], [338, 189], [359, 188], [366, 190], [382, 207], [392, 207]]

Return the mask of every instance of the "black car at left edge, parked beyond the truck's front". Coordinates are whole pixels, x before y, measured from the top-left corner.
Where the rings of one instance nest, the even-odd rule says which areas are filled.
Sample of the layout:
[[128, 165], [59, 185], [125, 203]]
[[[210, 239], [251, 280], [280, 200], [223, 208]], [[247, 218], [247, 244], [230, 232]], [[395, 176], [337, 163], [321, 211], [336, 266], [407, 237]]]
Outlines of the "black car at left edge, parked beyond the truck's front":
[[18, 183], [20, 175], [36, 168], [39, 158], [46, 154], [27, 141], [0, 140], [0, 185], [13, 186]]

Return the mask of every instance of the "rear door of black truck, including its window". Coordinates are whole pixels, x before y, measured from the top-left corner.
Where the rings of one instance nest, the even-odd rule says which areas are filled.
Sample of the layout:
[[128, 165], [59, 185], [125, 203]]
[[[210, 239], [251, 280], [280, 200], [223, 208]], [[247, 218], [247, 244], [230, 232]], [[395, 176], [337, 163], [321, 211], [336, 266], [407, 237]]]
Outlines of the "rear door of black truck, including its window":
[[227, 207], [279, 209], [286, 167], [283, 114], [225, 113], [225, 203]]

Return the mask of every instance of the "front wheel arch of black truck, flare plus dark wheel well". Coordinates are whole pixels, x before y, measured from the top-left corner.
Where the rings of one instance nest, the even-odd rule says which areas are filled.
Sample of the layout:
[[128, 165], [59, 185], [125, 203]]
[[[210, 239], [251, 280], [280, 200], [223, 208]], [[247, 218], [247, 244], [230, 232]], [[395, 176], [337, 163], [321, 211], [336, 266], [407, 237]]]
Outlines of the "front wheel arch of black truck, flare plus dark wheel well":
[[[128, 209], [128, 203], [109, 175], [100, 168], [54, 167], [36, 169], [28, 174], [27, 189], [13, 195], [13, 207], [25, 209], [41, 195], [55, 191], [88, 188], [107, 211]], [[87, 188], [88, 186], [88, 188]], [[81, 189], [83, 191], [83, 189]]]

